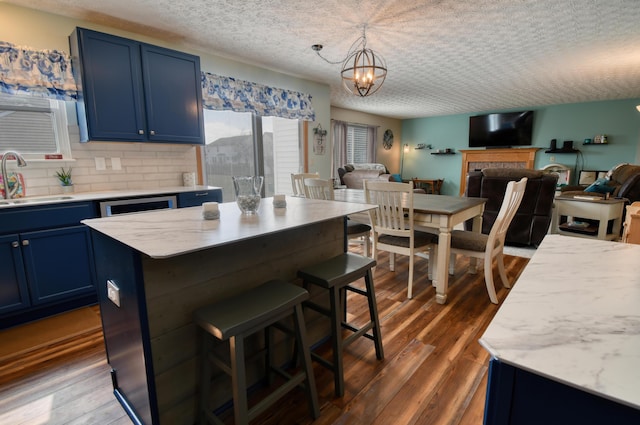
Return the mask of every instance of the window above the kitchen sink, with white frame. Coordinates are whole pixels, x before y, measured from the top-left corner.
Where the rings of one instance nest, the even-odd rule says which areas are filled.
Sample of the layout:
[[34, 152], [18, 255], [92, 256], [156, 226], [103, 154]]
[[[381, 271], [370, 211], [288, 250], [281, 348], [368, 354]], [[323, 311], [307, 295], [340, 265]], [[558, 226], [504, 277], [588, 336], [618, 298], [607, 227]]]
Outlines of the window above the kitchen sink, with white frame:
[[7, 150], [27, 159], [46, 154], [70, 159], [66, 102], [0, 94], [0, 152]]

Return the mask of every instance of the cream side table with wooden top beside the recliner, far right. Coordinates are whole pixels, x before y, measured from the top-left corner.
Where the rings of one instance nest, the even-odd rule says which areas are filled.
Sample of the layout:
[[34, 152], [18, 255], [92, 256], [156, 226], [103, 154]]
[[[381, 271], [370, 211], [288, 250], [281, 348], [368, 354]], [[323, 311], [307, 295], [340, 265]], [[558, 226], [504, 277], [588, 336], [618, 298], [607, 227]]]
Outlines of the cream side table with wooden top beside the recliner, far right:
[[[555, 198], [554, 233], [582, 238], [616, 240], [620, 238], [624, 199]], [[598, 221], [597, 225], [575, 225], [576, 220]], [[580, 220], [581, 221], [581, 220]], [[612, 221], [611, 227], [609, 222]]]

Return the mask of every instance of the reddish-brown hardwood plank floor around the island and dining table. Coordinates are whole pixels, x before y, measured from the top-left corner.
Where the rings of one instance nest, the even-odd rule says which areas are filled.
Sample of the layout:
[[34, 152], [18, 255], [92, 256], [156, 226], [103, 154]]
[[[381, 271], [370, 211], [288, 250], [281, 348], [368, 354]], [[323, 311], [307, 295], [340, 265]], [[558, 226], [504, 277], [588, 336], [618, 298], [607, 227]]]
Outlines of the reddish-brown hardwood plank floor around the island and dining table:
[[[506, 257], [512, 282], [527, 262]], [[426, 260], [416, 261], [414, 298], [408, 300], [407, 258], [399, 256], [390, 272], [388, 256], [381, 254], [375, 285], [385, 359], [376, 360], [372, 342], [360, 338], [345, 353], [344, 397], [334, 397], [331, 374], [315, 365], [319, 419], [310, 419], [303, 392], [295, 390], [254, 423], [481, 424], [489, 355], [478, 339], [498, 306], [489, 302], [482, 272], [468, 274], [467, 265], [458, 259], [448, 302], [439, 305], [425, 278]], [[508, 290], [499, 283], [496, 289], [502, 302]], [[352, 298], [349, 319], [357, 323], [368, 312], [362, 297]], [[0, 424], [130, 423], [112, 394], [99, 330], [14, 362], [0, 368]]]

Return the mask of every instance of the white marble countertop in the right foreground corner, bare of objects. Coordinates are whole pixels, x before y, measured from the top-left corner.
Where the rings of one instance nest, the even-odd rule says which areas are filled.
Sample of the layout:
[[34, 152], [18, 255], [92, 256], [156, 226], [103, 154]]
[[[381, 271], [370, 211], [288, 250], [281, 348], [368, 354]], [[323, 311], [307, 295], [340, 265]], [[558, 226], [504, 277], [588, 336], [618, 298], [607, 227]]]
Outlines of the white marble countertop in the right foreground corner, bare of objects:
[[640, 245], [547, 235], [480, 343], [504, 363], [640, 409]]

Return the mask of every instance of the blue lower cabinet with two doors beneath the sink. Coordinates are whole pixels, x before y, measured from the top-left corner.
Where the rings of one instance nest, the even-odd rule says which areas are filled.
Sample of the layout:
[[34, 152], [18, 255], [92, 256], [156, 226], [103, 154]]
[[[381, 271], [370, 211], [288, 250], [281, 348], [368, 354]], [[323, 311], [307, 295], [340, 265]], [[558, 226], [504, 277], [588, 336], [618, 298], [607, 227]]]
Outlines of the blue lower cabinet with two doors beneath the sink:
[[95, 304], [92, 202], [0, 210], [0, 329]]

